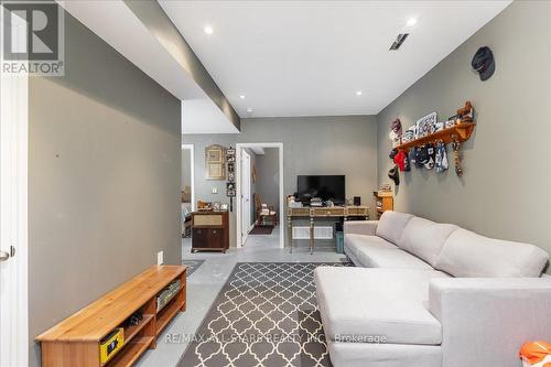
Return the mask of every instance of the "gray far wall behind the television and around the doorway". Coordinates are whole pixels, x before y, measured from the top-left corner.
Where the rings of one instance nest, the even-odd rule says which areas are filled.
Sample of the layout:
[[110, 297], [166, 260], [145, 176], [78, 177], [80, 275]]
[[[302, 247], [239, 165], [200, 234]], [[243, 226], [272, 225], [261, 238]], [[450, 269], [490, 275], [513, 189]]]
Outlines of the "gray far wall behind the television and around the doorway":
[[[372, 191], [377, 187], [375, 116], [244, 119], [239, 134], [184, 134], [183, 141], [195, 149], [196, 199], [229, 203], [225, 181], [205, 180], [205, 147], [282, 142], [285, 195], [296, 191], [299, 174], [345, 174], [347, 196], [361, 196], [363, 203], [372, 208]], [[210, 193], [212, 187], [218, 187], [217, 195]], [[235, 223], [234, 211], [230, 246], [236, 244]]]

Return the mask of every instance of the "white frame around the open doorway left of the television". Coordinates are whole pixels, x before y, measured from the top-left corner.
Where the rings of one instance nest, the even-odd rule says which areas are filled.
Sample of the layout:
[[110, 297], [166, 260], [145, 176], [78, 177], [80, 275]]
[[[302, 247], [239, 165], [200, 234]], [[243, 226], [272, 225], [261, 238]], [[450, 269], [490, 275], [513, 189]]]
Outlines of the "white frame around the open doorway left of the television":
[[279, 150], [279, 247], [285, 247], [284, 237], [284, 225], [282, 223], [284, 218], [284, 193], [283, 193], [283, 143], [282, 142], [258, 142], [258, 143], [237, 143], [236, 144], [236, 197], [237, 199], [237, 247], [242, 247], [242, 236], [241, 236], [241, 176], [240, 176], [240, 162], [241, 162], [241, 151], [246, 148], [277, 148]]

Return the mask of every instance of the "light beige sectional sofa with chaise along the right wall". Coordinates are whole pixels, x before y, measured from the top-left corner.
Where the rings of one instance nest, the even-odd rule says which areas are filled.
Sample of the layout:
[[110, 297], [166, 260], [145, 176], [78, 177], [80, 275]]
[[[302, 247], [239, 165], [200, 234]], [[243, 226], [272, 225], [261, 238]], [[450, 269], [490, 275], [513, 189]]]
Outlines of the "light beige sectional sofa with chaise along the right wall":
[[397, 212], [344, 230], [356, 268], [314, 272], [335, 367], [518, 367], [551, 341], [542, 249]]

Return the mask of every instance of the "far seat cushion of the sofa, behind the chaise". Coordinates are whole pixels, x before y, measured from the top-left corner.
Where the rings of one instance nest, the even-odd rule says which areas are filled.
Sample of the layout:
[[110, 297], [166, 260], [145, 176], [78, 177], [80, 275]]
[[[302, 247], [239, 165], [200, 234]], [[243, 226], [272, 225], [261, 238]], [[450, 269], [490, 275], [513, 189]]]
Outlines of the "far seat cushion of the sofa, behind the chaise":
[[361, 267], [432, 270], [432, 267], [418, 257], [399, 248], [360, 247], [355, 253]]

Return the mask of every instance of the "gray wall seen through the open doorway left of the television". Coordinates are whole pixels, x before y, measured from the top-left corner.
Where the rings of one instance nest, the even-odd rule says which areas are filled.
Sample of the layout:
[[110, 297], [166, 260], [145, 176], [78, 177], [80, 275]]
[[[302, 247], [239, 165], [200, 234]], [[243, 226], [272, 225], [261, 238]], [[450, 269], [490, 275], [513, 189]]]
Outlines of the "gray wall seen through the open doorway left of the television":
[[279, 207], [279, 150], [266, 148], [257, 156], [257, 194], [268, 206]]

